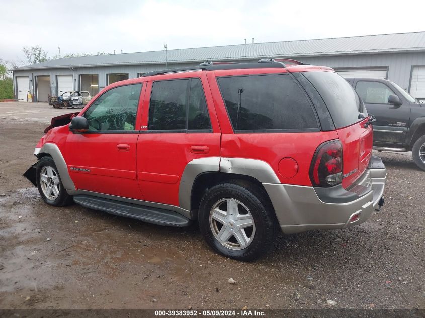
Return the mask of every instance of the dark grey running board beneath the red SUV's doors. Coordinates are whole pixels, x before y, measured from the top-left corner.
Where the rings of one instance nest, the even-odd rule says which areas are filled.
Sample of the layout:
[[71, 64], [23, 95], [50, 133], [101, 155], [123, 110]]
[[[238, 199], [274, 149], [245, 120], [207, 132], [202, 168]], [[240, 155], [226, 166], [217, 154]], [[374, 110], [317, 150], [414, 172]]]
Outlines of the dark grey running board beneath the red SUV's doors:
[[100, 210], [158, 225], [186, 227], [192, 223], [191, 220], [174, 211], [120, 202], [91, 195], [75, 195], [74, 202], [94, 210]]

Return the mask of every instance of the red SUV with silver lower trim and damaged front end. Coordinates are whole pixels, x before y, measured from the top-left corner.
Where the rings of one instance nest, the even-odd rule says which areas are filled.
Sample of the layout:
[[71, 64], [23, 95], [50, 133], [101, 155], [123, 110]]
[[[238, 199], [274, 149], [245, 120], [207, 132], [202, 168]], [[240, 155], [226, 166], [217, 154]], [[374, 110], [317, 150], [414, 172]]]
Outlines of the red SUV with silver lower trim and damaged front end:
[[214, 250], [252, 260], [279, 228], [349, 228], [383, 205], [372, 121], [331, 68], [202, 63], [114, 83], [54, 118], [24, 175], [47, 204], [198, 220]]

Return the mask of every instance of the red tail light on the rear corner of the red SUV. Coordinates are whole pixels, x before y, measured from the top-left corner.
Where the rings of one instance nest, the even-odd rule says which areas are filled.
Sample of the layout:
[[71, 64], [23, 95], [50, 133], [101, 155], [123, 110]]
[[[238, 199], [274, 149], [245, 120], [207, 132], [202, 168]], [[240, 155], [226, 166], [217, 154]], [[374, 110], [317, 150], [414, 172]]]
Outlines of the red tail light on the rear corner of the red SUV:
[[331, 140], [317, 147], [310, 166], [313, 186], [329, 187], [343, 180], [343, 145]]

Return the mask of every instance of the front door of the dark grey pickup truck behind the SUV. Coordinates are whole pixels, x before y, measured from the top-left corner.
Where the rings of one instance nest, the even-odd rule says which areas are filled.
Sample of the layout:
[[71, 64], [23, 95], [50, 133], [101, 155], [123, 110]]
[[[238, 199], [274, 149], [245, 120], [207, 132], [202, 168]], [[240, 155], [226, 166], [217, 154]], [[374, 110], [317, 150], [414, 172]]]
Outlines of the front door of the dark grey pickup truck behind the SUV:
[[389, 95], [403, 99], [383, 82], [359, 80], [355, 89], [363, 99], [369, 115], [376, 117], [373, 123], [374, 144], [403, 144], [409, 125], [410, 105], [406, 102], [401, 106], [389, 104]]

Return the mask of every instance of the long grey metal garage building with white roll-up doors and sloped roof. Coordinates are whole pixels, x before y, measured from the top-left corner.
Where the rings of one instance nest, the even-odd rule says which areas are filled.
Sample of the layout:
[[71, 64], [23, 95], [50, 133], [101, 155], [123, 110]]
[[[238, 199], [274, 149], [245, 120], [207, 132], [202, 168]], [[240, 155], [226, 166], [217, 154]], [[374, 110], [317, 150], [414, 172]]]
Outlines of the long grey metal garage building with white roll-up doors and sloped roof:
[[47, 101], [49, 95], [87, 90], [146, 72], [203, 61], [253, 62], [285, 57], [334, 68], [344, 77], [388, 78], [425, 100], [425, 32], [318, 40], [248, 43], [192, 49], [93, 55], [48, 60], [13, 70], [15, 98]]

